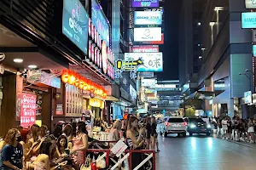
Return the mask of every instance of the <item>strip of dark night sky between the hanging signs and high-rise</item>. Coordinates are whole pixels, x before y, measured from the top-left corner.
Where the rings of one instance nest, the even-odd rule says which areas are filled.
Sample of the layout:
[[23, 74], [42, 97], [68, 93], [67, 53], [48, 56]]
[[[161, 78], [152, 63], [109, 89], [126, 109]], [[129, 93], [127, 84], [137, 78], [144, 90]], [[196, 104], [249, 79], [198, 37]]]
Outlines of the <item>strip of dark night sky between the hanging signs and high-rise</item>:
[[165, 44], [160, 46], [164, 57], [164, 72], [157, 73], [158, 80], [178, 80], [178, 18], [180, 0], [165, 2]]

